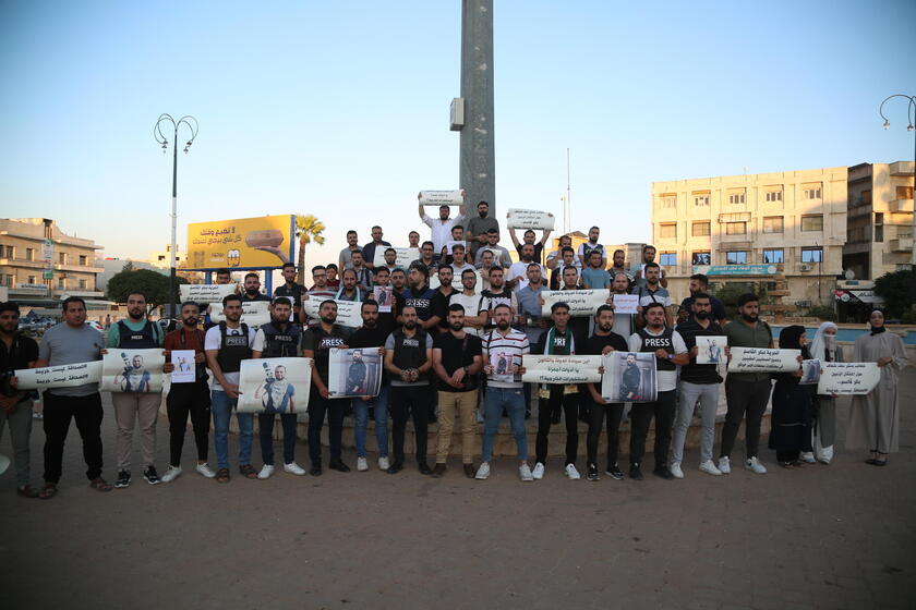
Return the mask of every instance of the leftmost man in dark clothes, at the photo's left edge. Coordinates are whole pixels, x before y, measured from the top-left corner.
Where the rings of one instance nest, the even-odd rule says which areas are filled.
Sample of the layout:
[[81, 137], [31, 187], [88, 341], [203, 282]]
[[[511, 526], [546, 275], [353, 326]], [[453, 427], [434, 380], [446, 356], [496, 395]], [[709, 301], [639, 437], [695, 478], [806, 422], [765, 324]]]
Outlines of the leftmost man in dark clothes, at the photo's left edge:
[[[12, 375], [16, 369], [35, 368], [38, 343], [19, 332], [19, 305], [12, 301], [0, 303], [0, 369]], [[10, 426], [13, 442], [13, 461], [16, 465], [16, 493], [37, 498], [38, 490], [29, 485], [28, 437], [32, 434], [32, 391], [17, 391], [14, 378], [3, 377], [0, 382], [0, 438]]]

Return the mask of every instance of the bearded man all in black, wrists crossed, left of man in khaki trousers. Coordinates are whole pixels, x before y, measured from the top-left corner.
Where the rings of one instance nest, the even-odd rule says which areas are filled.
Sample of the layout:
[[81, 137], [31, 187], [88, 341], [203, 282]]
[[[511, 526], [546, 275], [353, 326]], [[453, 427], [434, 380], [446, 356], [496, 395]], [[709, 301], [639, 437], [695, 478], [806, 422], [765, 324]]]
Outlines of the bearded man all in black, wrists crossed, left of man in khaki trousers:
[[[415, 272], [415, 269], [411, 269]], [[426, 425], [430, 414], [430, 369], [433, 340], [422, 328], [413, 305], [400, 309], [403, 326], [385, 341], [385, 369], [391, 376], [391, 420], [395, 463], [388, 474], [403, 469], [403, 438], [408, 413], [413, 415], [417, 464], [420, 474], [432, 474], [426, 464]]]

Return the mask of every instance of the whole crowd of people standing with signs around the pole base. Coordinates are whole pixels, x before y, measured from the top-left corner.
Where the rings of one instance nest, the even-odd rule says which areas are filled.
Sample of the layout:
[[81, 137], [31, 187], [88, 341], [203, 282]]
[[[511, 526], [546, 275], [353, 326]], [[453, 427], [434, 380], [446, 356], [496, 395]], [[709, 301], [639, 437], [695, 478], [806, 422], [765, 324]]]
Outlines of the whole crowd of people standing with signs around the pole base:
[[[652, 473], [663, 479], [683, 478], [687, 430], [698, 412], [702, 473], [721, 476], [732, 472], [732, 455], [738, 430], [745, 424], [745, 451], [740, 463], [755, 474], [767, 473], [760, 455], [761, 422], [772, 395], [772, 431], [769, 446], [776, 462], [786, 468], [804, 463], [829, 464], [835, 443], [834, 395], [817, 395], [813, 386], [799, 385], [801, 370], [730, 373], [723, 379], [715, 364], [698, 364], [697, 338], [725, 335], [730, 346], [795, 349], [822, 362], [842, 361], [836, 326], [824, 322], [811, 341], [805, 329], [790, 326], [773, 337], [759, 317], [759, 300], [747, 293], [738, 300], [738, 316], [727, 320], [723, 304], [709, 293], [708, 279], [690, 278], [690, 295], [679, 306], [666, 289], [667, 274], [655, 263], [655, 248], [642, 248], [642, 259], [627, 265], [623, 251], [606, 252], [592, 227], [588, 241], [572, 248], [569, 235], [561, 236], [557, 249], [544, 253], [550, 231], [527, 230], [518, 240], [508, 230], [518, 261], [501, 245], [504, 234], [480, 202], [478, 215], [467, 219], [463, 206], [457, 217], [442, 206], [437, 218], [420, 217], [431, 228], [431, 240], [420, 242], [411, 231], [409, 247], [419, 258], [397, 264], [398, 252], [384, 241], [381, 227], [371, 230], [372, 241], [359, 245], [357, 231], [348, 231], [347, 247], [335, 263], [311, 269], [311, 286], [297, 283], [292, 264], [282, 268], [284, 283], [273, 295], [261, 292], [257, 273], [242, 278], [237, 291], [222, 300], [218, 324], [207, 306], [181, 304], [180, 325], [165, 333], [147, 318], [146, 297], [132, 293], [128, 318], [112, 325], [104, 337], [87, 326], [82, 298], [71, 296], [62, 304], [63, 321], [49, 329], [40, 345], [17, 332], [20, 309], [15, 303], [0, 305], [0, 356], [3, 358], [0, 399], [0, 434], [9, 424], [14, 448], [17, 492], [24, 497], [52, 498], [62, 473], [64, 440], [71, 419], [83, 441], [86, 476], [94, 489], [109, 491], [131, 484], [133, 439], [141, 439], [144, 479], [168, 483], [183, 473], [182, 447], [190, 417], [195, 446], [195, 471], [204, 477], [228, 483], [232, 476], [229, 427], [240, 395], [239, 371], [251, 358], [297, 357], [313, 359], [308, 403], [308, 451], [310, 468], [296, 462], [294, 413], [279, 414], [284, 430], [284, 471], [292, 475], [323, 473], [322, 429], [327, 419], [329, 460], [327, 467], [349, 472], [341, 451], [345, 417], [352, 415], [358, 471], [370, 469], [366, 438], [374, 420], [377, 467], [396, 474], [405, 467], [407, 423], [414, 430], [414, 457], [421, 474], [433, 477], [447, 472], [447, 457], [456, 418], [461, 438], [463, 474], [486, 479], [492, 472], [494, 441], [503, 417], [508, 417], [517, 447], [521, 480], [545, 476], [552, 426], [566, 429], [563, 474], [579, 479], [580, 420], [588, 423], [586, 476], [599, 480], [601, 473], [613, 479], [643, 478], [647, 437], [654, 422]], [[457, 243], [456, 243], [457, 242]], [[384, 265], [376, 265], [382, 251]], [[231, 283], [228, 269], [216, 273], [217, 283]], [[394, 300], [379, 303], [376, 288], [391, 288]], [[433, 288], [435, 286], [435, 288]], [[606, 289], [607, 301], [593, 316], [570, 316], [562, 300], [544, 312], [544, 291]], [[638, 295], [636, 314], [615, 313], [615, 295]], [[310, 317], [303, 303], [317, 301], [317, 315]], [[255, 329], [242, 319], [246, 301], [268, 301], [270, 321]], [[360, 302], [361, 326], [338, 324], [340, 302]], [[855, 362], [876, 362], [881, 382], [871, 393], [855, 396], [852, 406], [848, 447], [868, 450], [868, 463], [885, 465], [897, 449], [897, 375], [906, 366], [903, 343], [884, 331], [880, 312], [871, 316], [871, 329], [855, 342]], [[98, 383], [53, 388], [43, 392], [44, 485], [31, 485], [28, 438], [32, 426], [32, 391], [16, 388], [16, 369], [58, 366], [101, 358], [109, 349], [155, 349], [167, 356], [165, 373], [173, 365], [174, 350], [193, 350], [196, 367], [193, 383], [172, 383], [166, 396], [169, 418], [169, 462], [160, 476], [156, 468], [156, 423], [160, 392], [112, 392], [117, 423], [117, 476], [113, 486], [103, 477], [104, 416]], [[381, 350], [384, 375], [376, 395], [340, 399], [328, 391], [329, 352], [335, 347]], [[527, 354], [607, 354], [648, 352], [655, 357], [658, 392], [652, 402], [610, 402], [600, 383], [526, 383]], [[727, 354], [727, 350], [726, 350]], [[800, 361], [801, 358], [799, 358]], [[775, 378], [775, 386], [773, 386]], [[715, 416], [724, 385], [727, 414], [721, 444], [714, 452]], [[298, 399], [297, 399], [298, 400]], [[526, 419], [537, 410], [537, 441], [533, 465], [529, 462]], [[258, 419], [262, 467], [252, 463], [254, 418]], [[273, 430], [276, 414], [236, 413], [239, 429], [238, 474], [245, 478], [268, 478], [275, 472]], [[627, 474], [619, 460], [618, 435], [625, 417], [630, 422]], [[437, 422], [434, 463], [429, 463], [429, 425]], [[483, 424], [482, 455], [474, 464], [475, 435]], [[209, 464], [209, 432], [216, 467]], [[390, 428], [390, 436], [389, 436]], [[606, 461], [599, 466], [601, 435], [607, 438]]]

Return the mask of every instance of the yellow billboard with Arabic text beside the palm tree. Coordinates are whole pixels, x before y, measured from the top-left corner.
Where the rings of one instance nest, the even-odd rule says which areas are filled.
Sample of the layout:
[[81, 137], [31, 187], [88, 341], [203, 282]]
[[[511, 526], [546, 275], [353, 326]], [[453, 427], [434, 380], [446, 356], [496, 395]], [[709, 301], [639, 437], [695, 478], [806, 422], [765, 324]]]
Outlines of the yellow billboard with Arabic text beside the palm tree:
[[270, 269], [293, 261], [292, 215], [210, 220], [188, 225], [190, 269]]

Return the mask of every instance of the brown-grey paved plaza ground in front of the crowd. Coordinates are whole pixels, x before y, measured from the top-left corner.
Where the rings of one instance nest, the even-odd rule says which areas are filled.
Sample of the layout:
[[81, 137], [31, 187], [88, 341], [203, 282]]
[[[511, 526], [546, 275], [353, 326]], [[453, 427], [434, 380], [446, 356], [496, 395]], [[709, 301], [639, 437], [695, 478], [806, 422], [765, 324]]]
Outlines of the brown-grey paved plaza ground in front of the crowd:
[[[474, 481], [453, 459], [442, 479], [409, 467], [218, 485], [188, 474], [188, 435], [177, 481], [150, 487], [135, 466], [129, 489], [100, 495], [73, 426], [57, 498], [25, 500], [12, 472], [0, 477], [0, 607], [912, 609], [914, 371], [903, 376], [901, 452], [884, 468], [841, 450], [830, 466], [783, 471], [764, 450], [770, 474], [711, 477], [694, 450], [676, 481], [569, 481], [562, 459], [542, 481], [520, 483], [510, 459]], [[841, 401], [840, 447], [847, 411]], [[0, 451], [11, 454], [9, 434]], [[260, 466], [256, 441], [254, 455]]]

